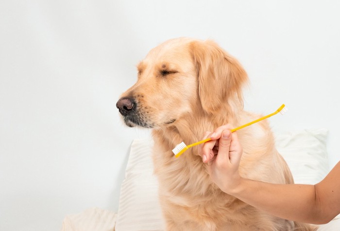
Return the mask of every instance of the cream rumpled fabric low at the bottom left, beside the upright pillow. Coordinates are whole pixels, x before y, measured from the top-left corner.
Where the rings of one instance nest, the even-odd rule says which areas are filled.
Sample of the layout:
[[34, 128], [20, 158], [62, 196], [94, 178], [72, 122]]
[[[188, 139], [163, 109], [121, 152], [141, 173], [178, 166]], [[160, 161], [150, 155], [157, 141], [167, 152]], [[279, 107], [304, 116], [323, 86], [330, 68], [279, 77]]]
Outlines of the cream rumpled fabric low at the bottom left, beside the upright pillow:
[[117, 214], [99, 208], [90, 208], [82, 213], [68, 215], [61, 231], [115, 231]]

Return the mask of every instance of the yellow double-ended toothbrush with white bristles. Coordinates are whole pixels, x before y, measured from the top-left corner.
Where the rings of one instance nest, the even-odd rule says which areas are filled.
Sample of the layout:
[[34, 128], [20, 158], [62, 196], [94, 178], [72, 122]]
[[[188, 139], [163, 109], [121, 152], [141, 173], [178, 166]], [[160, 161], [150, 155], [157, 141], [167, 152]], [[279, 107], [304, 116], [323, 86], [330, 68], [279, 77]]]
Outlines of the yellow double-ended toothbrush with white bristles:
[[[252, 125], [252, 124], [254, 124], [254, 123], [257, 123], [257, 122], [259, 122], [259, 121], [261, 121], [261, 120], [267, 119], [267, 118], [269, 118], [269, 117], [271, 117], [271, 116], [273, 116], [273, 115], [276, 115], [276, 114], [279, 113], [279, 112], [283, 115], [283, 114], [287, 111], [287, 108], [285, 108], [285, 107], [286, 107], [286, 106], [283, 104], [283, 105], [281, 105], [281, 107], [278, 108], [275, 112], [273, 112], [273, 113], [271, 113], [271, 114], [269, 114], [269, 115], [263, 116], [263, 117], [261, 117], [260, 119], [257, 119], [257, 120], [255, 120], [255, 121], [252, 121], [252, 122], [250, 122], [250, 123], [246, 123], [246, 124], [243, 124], [243, 125], [241, 125], [241, 126], [239, 126], [239, 127], [237, 127], [237, 128], [231, 129], [230, 131], [231, 131], [231, 132], [235, 132], [235, 131], [237, 131], [237, 130], [239, 130], [239, 129], [242, 129], [242, 128], [244, 128], [244, 127], [247, 127], [247, 126], [249, 126], [249, 125]], [[180, 144], [177, 144], [176, 147], [175, 147], [174, 149], [172, 149], [172, 152], [173, 152], [173, 154], [175, 155], [175, 157], [177, 158], [177, 157], [179, 157], [181, 154], [183, 154], [185, 151], [187, 151], [188, 148], [191, 148], [191, 147], [193, 147], [193, 146], [196, 146], [196, 145], [199, 145], [199, 144], [201, 144], [201, 143], [207, 142], [207, 141], [209, 141], [209, 140], [211, 140], [211, 138], [203, 139], [203, 140], [201, 140], [201, 141], [198, 141], [198, 142], [196, 142], [196, 143], [189, 144], [189, 145], [186, 145], [184, 142], [182, 142], [182, 143], [180, 143]]]

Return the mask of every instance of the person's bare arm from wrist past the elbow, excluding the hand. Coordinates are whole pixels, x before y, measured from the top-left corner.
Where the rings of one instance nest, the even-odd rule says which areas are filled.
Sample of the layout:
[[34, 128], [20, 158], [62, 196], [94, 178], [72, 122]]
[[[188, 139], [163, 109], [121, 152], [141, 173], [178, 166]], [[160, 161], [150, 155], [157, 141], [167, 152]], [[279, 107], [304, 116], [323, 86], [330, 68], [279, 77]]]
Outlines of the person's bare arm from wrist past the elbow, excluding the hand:
[[276, 185], [241, 178], [238, 186], [227, 191], [275, 216], [324, 224], [340, 213], [339, 177], [340, 162], [317, 185]]

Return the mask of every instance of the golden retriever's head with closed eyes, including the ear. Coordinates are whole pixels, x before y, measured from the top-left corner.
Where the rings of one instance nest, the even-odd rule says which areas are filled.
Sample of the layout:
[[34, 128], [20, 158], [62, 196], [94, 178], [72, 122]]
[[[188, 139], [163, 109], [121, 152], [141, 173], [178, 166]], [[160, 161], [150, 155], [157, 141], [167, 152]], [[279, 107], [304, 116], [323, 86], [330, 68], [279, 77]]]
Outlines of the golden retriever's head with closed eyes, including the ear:
[[168, 126], [187, 113], [217, 113], [238, 100], [247, 75], [212, 41], [169, 40], [137, 65], [138, 80], [116, 106], [124, 122], [146, 128]]

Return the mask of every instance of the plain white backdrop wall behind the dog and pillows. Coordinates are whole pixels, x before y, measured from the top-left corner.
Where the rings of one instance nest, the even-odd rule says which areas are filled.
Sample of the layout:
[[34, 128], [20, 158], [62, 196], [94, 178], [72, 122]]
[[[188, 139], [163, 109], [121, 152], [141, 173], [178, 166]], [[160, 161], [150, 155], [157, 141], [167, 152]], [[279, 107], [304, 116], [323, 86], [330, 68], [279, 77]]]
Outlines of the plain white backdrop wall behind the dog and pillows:
[[245, 108], [273, 129], [329, 129], [340, 159], [340, 3], [312, 0], [1, 0], [0, 231], [59, 231], [118, 210], [129, 145], [115, 106], [161, 42], [213, 39], [250, 77]]

